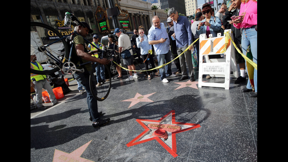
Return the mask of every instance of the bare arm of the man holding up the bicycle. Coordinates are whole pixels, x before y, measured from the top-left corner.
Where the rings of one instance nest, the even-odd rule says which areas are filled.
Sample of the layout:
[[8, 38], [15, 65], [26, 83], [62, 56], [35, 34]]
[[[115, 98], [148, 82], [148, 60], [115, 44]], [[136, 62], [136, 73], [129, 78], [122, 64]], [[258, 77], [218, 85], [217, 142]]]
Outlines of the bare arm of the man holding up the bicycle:
[[104, 59], [98, 59], [96, 57], [91, 56], [93, 51], [91, 51], [91, 54], [84, 52], [84, 45], [83, 44], [77, 44], [75, 49], [76, 49], [77, 55], [84, 60], [98, 62], [100, 64], [109, 64], [109, 60], [107, 60], [105, 58]]

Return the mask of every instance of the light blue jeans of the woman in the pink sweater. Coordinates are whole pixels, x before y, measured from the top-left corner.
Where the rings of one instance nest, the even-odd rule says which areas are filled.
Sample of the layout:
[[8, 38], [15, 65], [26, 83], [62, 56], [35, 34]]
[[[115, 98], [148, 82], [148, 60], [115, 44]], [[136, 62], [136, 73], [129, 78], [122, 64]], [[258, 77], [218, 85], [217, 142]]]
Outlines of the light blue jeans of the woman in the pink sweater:
[[[257, 31], [255, 30], [255, 26], [251, 28], [242, 29], [242, 50], [243, 54], [246, 56], [247, 48], [250, 45], [251, 52], [253, 56], [253, 62], [257, 64]], [[247, 69], [247, 65], [246, 65]], [[257, 70], [254, 69], [254, 86], [255, 92], [257, 92]], [[247, 88], [252, 89], [250, 81], [247, 83]]]

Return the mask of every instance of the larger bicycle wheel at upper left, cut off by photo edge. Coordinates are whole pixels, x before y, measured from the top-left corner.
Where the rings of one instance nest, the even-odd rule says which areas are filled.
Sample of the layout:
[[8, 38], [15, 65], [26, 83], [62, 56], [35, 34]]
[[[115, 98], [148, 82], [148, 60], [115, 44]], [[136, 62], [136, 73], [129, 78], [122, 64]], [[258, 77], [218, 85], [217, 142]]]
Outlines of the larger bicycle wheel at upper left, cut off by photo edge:
[[[63, 36], [53, 27], [39, 22], [30, 22], [30, 25], [30, 52], [31, 55], [36, 55], [36, 61], [40, 62], [44, 67], [43, 71], [35, 69], [30, 71], [33, 74], [40, 75], [53, 74], [62, 68], [60, 56], [64, 58], [65, 52], [68, 51], [68, 45], [65, 39], [57, 41]], [[50, 43], [53, 44], [45, 46]]]

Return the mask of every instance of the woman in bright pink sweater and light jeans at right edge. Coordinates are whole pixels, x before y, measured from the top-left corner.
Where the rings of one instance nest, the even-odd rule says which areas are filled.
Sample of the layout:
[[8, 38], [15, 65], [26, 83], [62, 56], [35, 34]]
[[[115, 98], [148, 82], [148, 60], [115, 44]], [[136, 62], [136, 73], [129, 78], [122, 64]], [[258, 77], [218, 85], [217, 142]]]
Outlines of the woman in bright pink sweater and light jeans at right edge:
[[[256, 0], [242, 0], [239, 11], [238, 19], [232, 21], [235, 28], [242, 31], [242, 50], [246, 55], [248, 46], [251, 47], [253, 56], [253, 62], [257, 64], [257, 31], [255, 27], [257, 25], [257, 1]], [[246, 67], [247, 69], [247, 67]], [[255, 92], [249, 94], [250, 97], [257, 97], [257, 70], [254, 69], [254, 86]], [[242, 89], [242, 92], [252, 91], [250, 81], [248, 81], [246, 88]]]

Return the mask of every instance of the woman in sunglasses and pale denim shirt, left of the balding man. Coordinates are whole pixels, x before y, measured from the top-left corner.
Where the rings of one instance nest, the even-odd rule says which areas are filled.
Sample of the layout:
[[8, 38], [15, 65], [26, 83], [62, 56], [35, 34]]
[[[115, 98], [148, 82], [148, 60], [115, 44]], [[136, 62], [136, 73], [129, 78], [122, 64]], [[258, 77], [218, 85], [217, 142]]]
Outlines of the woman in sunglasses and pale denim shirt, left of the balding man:
[[[137, 42], [137, 47], [141, 49], [141, 56], [143, 61], [146, 60], [147, 56], [148, 56], [148, 51], [152, 49], [152, 45], [148, 43], [148, 37], [147, 35], [144, 34], [144, 27], [143, 26], [139, 26], [138, 28], [138, 33], [139, 36], [136, 38], [136, 42]], [[155, 68], [155, 64], [154, 64], [154, 59], [153, 56], [149, 54], [148, 59], [150, 61], [151, 67]], [[145, 70], [148, 70], [148, 59], [144, 62], [145, 64]], [[150, 76], [150, 71], [146, 71], [147, 75], [148, 75], [148, 80], [151, 80], [151, 76]], [[159, 73], [157, 73], [156, 69], [153, 70], [154, 74], [157, 76]]]

